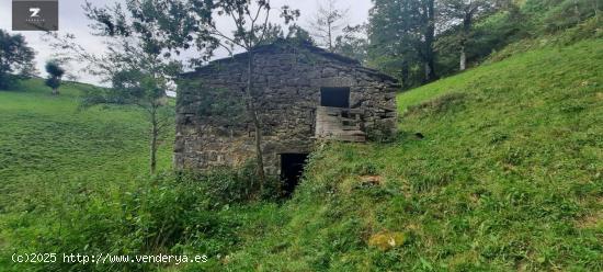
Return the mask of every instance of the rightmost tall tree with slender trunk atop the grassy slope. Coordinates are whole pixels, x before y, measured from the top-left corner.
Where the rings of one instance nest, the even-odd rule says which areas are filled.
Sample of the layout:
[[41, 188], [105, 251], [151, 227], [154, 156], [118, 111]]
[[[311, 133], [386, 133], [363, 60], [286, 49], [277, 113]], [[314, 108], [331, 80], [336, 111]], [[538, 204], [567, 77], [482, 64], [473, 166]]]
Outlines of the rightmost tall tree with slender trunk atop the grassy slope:
[[480, 16], [487, 15], [498, 7], [492, 0], [441, 0], [439, 12], [443, 27], [459, 26], [454, 38], [458, 44], [459, 70], [467, 68], [467, 43], [471, 38], [474, 23]]

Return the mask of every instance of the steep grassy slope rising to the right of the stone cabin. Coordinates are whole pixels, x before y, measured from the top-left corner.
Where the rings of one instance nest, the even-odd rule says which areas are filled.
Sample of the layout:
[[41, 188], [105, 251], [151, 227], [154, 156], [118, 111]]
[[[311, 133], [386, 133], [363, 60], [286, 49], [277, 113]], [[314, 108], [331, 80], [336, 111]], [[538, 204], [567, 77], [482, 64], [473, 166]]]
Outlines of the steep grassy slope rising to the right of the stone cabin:
[[329, 145], [235, 270], [603, 270], [603, 41], [399, 95], [394, 143]]

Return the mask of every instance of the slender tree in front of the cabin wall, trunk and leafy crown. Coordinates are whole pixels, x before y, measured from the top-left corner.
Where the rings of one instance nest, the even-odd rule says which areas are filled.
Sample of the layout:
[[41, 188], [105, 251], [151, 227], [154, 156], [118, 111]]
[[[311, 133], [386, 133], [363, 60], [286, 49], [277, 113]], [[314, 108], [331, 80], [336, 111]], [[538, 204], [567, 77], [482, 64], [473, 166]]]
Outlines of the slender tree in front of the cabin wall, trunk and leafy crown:
[[[159, 44], [164, 45], [161, 47], [162, 49], [175, 53], [195, 50], [193, 55], [200, 57], [189, 59], [191, 66], [198, 66], [208, 60], [213, 50], [218, 47], [224, 48], [230, 55], [235, 49], [240, 48], [248, 52], [244, 104], [255, 129], [257, 170], [261, 183], [263, 183], [265, 174], [261, 148], [262, 125], [258, 117], [258, 109], [253, 103], [255, 91], [251, 79], [254, 73], [253, 47], [282, 36], [281, 27], [270, 23], [270, 15], [273, 11], [270, 1], [129, 0], [128, 10], [133, 12], [135, 19], [140, 21], [133, 24], [135, 30], [141, 29], [139, 25], [152, 25], [148, 32], [143, 32], [143, 34], [148, 36], [152, 33], [159, 33], [157, 36], [162, 38]], [[280, 9], [280, 15], [287, 24], [299, 16], [299, 11], [284, 5]], [[229, 34], [219, 29], [216, 22], [217, 18], [230, 19], [235, 30]], [[99, 16], [99, 20], [101, 19]], [[116, 16], [116, 19], [120, 19], [120, 16]], [[112, 20], [111, 22], [110, 26], [113, 26], [114, 31], [120, 31], [121, 27], [117, 24], [120, 20]], [[260, 189], [261, 186], [262, 184], [260, 184]]]

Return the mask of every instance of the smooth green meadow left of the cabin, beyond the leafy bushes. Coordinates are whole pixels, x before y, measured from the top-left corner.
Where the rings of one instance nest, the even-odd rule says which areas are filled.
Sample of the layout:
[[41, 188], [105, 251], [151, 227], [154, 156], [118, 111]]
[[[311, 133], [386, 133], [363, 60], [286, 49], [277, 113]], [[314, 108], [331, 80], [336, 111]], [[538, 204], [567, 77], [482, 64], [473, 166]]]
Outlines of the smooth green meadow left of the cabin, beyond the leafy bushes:
[[[37, 246], [65, 243], [61, 236], [78, 231], [67, 218], [92, 216], [86, 203], [118, 197], [147, 175], [143, 112], [128, 106], [80, 111], [86, 88], [66, 83], [53, 97], [42, 80], [32, 79], [0, 91], [0, 271], [14, 265], [5, 258], [14, 252], [55, 251]], [[171, 168], [171, 139], [167, 143], [159, 169]]]

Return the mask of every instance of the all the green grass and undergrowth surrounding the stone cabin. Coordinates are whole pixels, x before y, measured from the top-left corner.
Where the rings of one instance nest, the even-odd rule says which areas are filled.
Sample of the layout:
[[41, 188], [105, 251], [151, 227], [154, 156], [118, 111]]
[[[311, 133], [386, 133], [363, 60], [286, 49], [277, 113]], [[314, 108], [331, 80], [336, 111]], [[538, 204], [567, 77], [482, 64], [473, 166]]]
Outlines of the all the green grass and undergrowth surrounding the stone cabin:
[[[203, 199], [194, 183], [149, 179], [141, 112], [79, 112], [80, 88], [56, 98], [32, 80], [0, 92], [0, 268], [603, 270], [602, 39], [527, 50], [401, 93], [394, 141], [318, 147], [293, 200], [278, 204], [206, 209], [195, 204]], [[159, 161], [169, 172], [169, 138]], [[7, 259], [32, 250], [148, 253], [140, 239], [153, 231], [177, 242], [151, 253], [208, 253], [209, 262]]]

